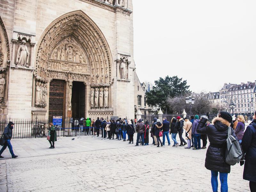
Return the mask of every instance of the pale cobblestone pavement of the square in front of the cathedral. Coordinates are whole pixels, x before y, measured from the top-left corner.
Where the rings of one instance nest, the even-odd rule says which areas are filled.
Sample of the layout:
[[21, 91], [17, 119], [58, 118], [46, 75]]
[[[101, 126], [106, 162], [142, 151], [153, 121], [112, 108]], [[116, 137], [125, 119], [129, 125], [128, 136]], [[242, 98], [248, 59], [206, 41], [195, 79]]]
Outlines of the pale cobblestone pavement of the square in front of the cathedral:
[[[58, 140], [55, 149], [45, 138], [12, 140], [19, 158], [10, 159], [7, 150], [2, 154], [7, 158], [0, 160], [0, 191], [212, 191], [211, 173], [204, 168], [206, 149], [71, 139]], [[249, 191], [243, 168], [232, 166], [229, 192]]]

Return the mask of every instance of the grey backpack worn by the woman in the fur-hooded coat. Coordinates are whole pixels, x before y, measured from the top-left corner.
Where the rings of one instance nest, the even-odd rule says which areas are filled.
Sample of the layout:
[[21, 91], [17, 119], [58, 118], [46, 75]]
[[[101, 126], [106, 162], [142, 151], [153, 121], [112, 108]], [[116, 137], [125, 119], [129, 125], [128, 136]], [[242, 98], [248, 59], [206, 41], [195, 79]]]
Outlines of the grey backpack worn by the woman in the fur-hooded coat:
[[229, 165], [235, 165], [243, 157], [239, 142], [231, 135], [231, 127], [228, 127], [228, 138], [226, 140], [226, 163]]

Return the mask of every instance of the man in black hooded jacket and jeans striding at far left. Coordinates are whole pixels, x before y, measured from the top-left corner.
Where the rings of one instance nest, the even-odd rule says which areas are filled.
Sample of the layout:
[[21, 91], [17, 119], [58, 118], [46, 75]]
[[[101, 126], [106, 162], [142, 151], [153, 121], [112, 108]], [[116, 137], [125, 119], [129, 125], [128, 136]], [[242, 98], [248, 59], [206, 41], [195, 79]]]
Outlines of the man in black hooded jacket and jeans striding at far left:
[[11, 144], [13, 125], [14, 125], [14, 123], [12, 123], [10, 121], [8, 123], [7, 127], [4, 128], [3, 139], [5, 140], [5, 142], [4, 142], [4, 145], [3, 145], [2, 149], [0, 150], [0, 158], [4, 158], [1, 155], [4, 152], [4, 150], [6, 149], [7, 146], [10, 150], [12, 158], [18, 157], [17, 155], [14, 155], [13, 150], [12, 150], [12, 144]]

